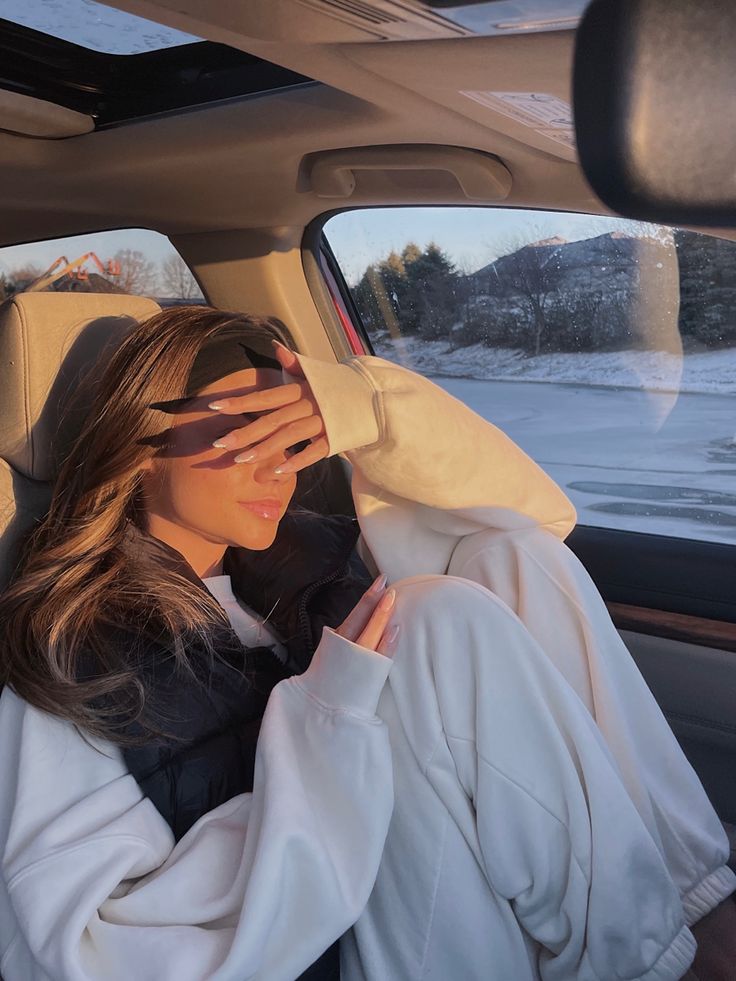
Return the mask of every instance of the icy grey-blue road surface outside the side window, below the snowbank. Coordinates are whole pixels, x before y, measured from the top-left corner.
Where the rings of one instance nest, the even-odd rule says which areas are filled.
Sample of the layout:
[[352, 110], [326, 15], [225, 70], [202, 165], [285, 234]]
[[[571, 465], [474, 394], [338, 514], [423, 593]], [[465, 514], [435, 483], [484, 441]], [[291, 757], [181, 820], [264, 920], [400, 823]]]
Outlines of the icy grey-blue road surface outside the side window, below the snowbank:
[[580, 524], [736, 541], [736, 397], [432, 381], [533, 457], [564, 487]]

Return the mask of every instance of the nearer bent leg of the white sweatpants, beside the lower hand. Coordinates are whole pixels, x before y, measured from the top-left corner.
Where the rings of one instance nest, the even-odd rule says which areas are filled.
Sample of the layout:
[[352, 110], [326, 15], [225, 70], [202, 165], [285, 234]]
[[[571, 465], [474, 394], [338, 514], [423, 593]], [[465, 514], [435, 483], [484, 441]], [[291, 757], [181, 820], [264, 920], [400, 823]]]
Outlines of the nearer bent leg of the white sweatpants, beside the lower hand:
[[[402, 631], [378, 715], [395, 806], [371, 898], [343, 938], [345, 981], [682, 977], [695, 941], [661, 840], [549, 653], [469, 578], [394, 587]], [[638, 672], [624, 684], [646, 688]], [[675, 783], [690, 780], [682, 761]], [[688, 848], [720, 867], [701, 838], [695, 828]]]

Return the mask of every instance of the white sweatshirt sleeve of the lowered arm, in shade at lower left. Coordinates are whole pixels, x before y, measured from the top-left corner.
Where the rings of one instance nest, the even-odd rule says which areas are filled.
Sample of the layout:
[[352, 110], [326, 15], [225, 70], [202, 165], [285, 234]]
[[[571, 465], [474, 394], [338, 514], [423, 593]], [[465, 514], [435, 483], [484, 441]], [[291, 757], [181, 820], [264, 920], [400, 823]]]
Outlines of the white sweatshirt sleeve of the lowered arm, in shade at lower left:
[[[254, 789], [174, 845], [117, 747], [6, 689], [2, 878], [33, 971], [57, 981], [293, 981], [358, 918], [393, 807], [375, 714], [390, 659], [325, 628], [273, 690]], [[2, 833], [2, 832], [0, 832]]]

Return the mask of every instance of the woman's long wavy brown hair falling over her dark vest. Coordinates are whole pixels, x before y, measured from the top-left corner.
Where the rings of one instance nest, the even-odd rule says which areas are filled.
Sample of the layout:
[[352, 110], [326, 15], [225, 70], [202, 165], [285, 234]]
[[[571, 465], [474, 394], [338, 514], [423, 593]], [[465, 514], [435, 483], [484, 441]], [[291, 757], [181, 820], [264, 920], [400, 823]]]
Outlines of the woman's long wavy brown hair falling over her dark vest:
[[[139, 638], [155, 637], [177, 671], [197, 677], [192, 643], [216, 656], [212, 626], [226, 622], [206, 590], [155, 556], [131, 561], [123, 543], [129, 522], [141, 527], [141, 466], [161, 428], [147, 406], [183, 397], [203, 342], [233, 324], [288, 343], [280, 321], [202, 306], [164, 310], [130, 331], [90, 382], [91, 410], [59, 461], [50, 509], [0, 597], [0, 685], [121, 746], [161, 730], [147, 713], [145, 640], [110, 644], [110, 627], [136, 624]], [[82, 652], [92, 674], [80, 676]], [[131, 720], [143, 736], [123, 731]]]

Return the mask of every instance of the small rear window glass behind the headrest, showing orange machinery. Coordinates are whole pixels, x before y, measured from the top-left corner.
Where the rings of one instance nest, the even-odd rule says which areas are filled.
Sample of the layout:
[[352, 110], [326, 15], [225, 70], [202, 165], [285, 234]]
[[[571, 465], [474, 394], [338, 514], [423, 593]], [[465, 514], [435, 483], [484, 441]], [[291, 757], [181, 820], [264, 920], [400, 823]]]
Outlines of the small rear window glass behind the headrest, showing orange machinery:
[[135, 293], [162, 306], [204, 302], [171, 242], [143, 228], [0, 248], [0, 299], [39, 290]]

